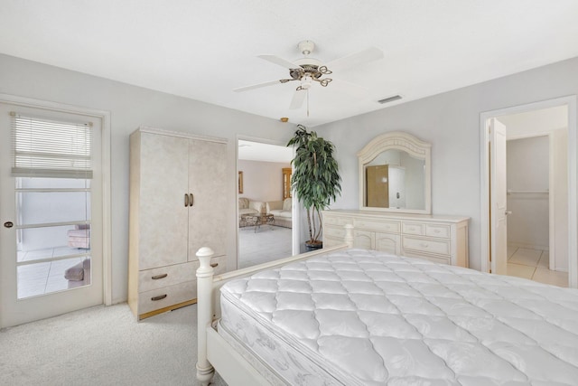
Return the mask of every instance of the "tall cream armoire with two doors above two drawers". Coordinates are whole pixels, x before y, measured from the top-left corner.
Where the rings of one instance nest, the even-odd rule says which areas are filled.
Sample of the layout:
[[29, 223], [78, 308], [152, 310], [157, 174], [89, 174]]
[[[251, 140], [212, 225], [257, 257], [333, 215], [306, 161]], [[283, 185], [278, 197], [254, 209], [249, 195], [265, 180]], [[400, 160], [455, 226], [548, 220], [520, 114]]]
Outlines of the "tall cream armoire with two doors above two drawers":
[[138, 319], [196, 301], [200, 247], [226, 270], [227, 140], [140, 127], [130, 136], [128, 305]]

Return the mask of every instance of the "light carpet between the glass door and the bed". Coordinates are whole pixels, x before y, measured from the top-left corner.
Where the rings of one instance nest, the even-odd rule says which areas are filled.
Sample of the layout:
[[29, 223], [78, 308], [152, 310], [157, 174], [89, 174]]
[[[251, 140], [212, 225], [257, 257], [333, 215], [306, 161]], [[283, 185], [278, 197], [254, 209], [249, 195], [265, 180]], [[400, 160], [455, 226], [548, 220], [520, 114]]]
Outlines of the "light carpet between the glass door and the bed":
[[136, 323], [120, 304], [6, 328], [0, 385], [198, 385], [196, 320], [193, 305]]

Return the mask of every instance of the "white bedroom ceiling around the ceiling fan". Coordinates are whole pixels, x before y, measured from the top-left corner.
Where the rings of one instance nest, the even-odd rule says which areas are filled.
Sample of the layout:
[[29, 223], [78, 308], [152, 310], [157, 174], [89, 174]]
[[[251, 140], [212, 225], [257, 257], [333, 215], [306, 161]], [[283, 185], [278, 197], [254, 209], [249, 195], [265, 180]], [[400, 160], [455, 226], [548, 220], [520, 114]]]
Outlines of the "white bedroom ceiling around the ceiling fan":
[[[313, 127], [578, 56], [576, 0], [0, 0], [0, 52]], [[314, 84], [307, 117], [296, 82], [256, 57], [294, 61], [297, 43], [333, 61], [369, 47], [385, 59]], [[391, 106], [388, 105], [388, 106]]]

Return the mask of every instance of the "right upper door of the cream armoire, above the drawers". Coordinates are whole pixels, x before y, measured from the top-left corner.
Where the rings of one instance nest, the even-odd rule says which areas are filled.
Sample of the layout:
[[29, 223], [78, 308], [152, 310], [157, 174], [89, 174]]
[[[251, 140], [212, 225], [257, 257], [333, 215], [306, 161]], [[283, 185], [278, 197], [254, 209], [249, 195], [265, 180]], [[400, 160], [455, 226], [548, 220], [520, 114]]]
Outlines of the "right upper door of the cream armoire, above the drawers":
[[189, 261], [196, 260], [201, 247], [215, 256], [227, 246], [227, 145], [189, 140]]

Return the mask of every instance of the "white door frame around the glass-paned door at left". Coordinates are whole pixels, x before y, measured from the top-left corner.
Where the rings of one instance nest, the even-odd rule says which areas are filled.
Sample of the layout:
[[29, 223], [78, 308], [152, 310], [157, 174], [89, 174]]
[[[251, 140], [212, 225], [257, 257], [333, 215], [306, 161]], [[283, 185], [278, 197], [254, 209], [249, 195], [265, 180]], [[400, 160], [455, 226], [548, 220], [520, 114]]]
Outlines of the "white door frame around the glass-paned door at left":
[[83, 114], [98, 118], [101, 122], [101, 166], [102, 166], [102, 288], [105, 306], [112, 305], [112, 244], [110, 210], [110, 112], [83, 108], [41, 99], [0, 94], [0, 102], [25, 108], [43, 108], [70, 114]]

